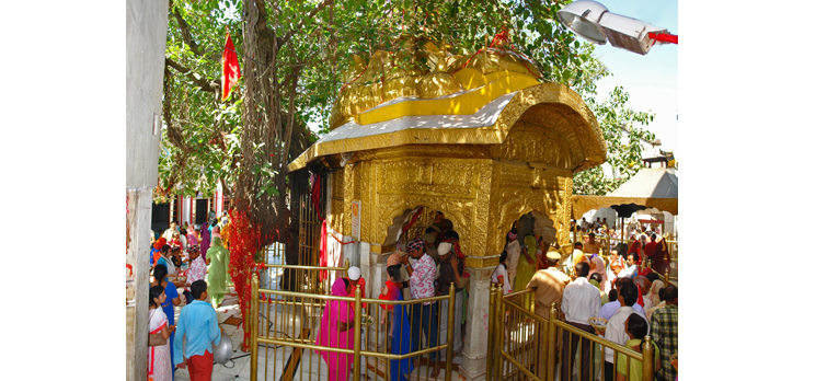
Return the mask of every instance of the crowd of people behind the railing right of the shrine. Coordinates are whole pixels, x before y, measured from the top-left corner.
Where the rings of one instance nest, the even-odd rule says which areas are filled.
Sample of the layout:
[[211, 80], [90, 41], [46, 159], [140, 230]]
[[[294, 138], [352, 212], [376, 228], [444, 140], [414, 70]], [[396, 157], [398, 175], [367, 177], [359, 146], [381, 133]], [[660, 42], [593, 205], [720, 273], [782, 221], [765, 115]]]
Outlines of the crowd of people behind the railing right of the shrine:
[[[516, 240], [516, 235], [515, 229], [509, 232], [507, 240]], [[530, 243], [535, 241], [531, 235], [526, 235], [524, 242], [529, 243], [524, 246], [532, 247]], [[670, 357], [678, 350], [678, 288], [666, 285], [657, 273], [643, 266], [644, 257], [652, 259], [653, 267], [656, 264], [668, 266], [668, 253], [665, 252], [663, 240], [658, 240], [656, 234], [652, 236], [652, 242], [646, 244], [634, 241], [629, 249], [611, 247], [608, 270], [607, 261], [600, 255], [600, 244], [596, 241], [594, 232], [589, 233], [585, 244], [574, 244], [574, 252], [566, 264], [561, 263], [562, 256], [559, 252], [545, 252], [542, 249], [535, 256], [527, 255], [527, 251], [522, 250], [518, 252], [517, 261], [509, 262], [509, 244], [512, 243], [506, 244], [501, 254], [501, 266], [494, 272], [496, 279], [492, 279], [503, 285], [504, 293], [532, 289], [533, 308], [538, 315], [549, 319], [552, 304], [556, 304], [560, 320], [639, 353], [642, 339], [650, 335], [654, 346], [657, 379], [677, 380], [677, 370], [671, 366]], [[537, 267], [525, 284], [520, 279], [526, 275], [520, 275], [520, 272], [530, 270], [525, 262], [537, 262], [539, 256], [547, 258], [548, 268]], [[664, 256], [667, 258], [656, 261], [657, 257], [663, 259]], [[512, 282], [507, 275], [510, 274], [508, 267], [514, 262], [518, 263], [518, 270], [510, 278], [515, 279]], [[568, 274], [566, 268], [572, 268], [573, 274]], [[658, 273], [663, 272], [664, 269], [661, 269]], [[510, 285], [515, 287], [512, 289]], [[530, 299], [524, 298], [524, 301]], [[589, 323], [590, 318], [606, 320], [605, 332], [596, 331]], [[593, 345], [589, 336], [571, 335], [566, 330], [562, 330], [562, 333], [561, 379], [568, 380], [574, 369], [579, 369], [581, 381], [589, 380], [589, 374], [598, 374], [600, 346]], [[616, 365], [613, 350], [607, 347], [605, 354], [604, 380], [643, 379], [641, 361], [629, 360], [627, 356], [618, 355]], [[577, 356], [579, 367], [574, 363]]]

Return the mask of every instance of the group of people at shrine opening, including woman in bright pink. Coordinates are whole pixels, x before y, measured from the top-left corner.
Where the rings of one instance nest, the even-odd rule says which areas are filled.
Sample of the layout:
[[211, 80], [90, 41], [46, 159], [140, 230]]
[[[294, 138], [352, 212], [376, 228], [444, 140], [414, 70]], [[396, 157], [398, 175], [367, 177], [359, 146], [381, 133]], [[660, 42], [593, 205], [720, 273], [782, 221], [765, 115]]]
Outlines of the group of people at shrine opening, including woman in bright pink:
[[[426, 299], [446, 296], [453, 284], [453, 338], [448, 342], [448, 309], [449, 300], [424, 301], [414, 303], [410, 309], [401, 304], [381, 304], [381, 324], [390, 324], [390, 350], [395, 355], [405, 355], [421, 349], [434, 348], [449, 344], [453, 353], [462, 350], [463, 335], [461, 334], [467, 314], [467, 285], [470, 274], [466, 270], [464, 255], [460, 246], [460, 236], [453, 231], [450, 220], [441, 212], [436, 213], [433, 223], [416, 239], [397, 243], [397, 251], [389, 255], [387, 262], [387, 281], [377, 299], [404, 300], [404, 289], [409, 289], [411, 299]], [[357, 267], [347, 272], [347, 277], [336, 279], [332, 287], [334, 296], [353, 297], [359, 285], [363, 298], [370, 298], [365, 288], [365, 280]], [[341, 301], [326, 302], [322, 314], [322, 324], [317, 336], [317, 344], [326, 347], [353, 349], [355, 309], [357, 307]], [[365, 314], [363, 314], [365, 315]], [[365, 335], [361, 336], [363, 338]], [[425, 344], [421, 345], [422, 337]], [[422, 348], [421, 348], [422, 346]], [[353, 356], [321, 351], [328, 363], [328, 374], [331, 381], [347, 381], [353, 366]], [[427, 355], [428, 367], [433, 367], [429, 376], [439, 374], [439, 360], [446, 356], [444, 351], [435, 350]], [[409, 358], [390, 361], [389, 379], [402, 381], [420, 365], [420, 358]], [[365, 369], [363, 366], [361, 369]]]

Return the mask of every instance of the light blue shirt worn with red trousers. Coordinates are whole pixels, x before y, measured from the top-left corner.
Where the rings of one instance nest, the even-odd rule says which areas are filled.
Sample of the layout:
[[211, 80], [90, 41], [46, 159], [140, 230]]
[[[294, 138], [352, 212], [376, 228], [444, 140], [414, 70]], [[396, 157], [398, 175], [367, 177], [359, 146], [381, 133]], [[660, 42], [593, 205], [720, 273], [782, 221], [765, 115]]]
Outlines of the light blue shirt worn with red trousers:
[[186, 358], [213, 353], [213, 344], [221, 342], [221, 330], [218, 328], [218, 316], [213, 305], [203, 300], [193, 300], [181, 310], [179, 324], [175, 327], [173, 340], [173, 361], [175, 365], [184, 362], [182, 338], [186, 336]]

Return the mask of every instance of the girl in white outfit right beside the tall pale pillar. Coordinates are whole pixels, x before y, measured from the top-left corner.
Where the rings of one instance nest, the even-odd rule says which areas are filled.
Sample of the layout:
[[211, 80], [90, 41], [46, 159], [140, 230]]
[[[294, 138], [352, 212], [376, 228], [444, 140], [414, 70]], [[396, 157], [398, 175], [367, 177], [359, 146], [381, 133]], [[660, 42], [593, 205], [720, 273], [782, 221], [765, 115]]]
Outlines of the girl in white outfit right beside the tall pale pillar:
[[147, 358], [147, 378], [149, 381], [172, 381], [172, 361], [170, 358], [170, 328], [166, 314], [161, 304], [166, 302], [163, 286], [149, 289], [149, 333], [160, 333], [166, 344], [149, 347]]

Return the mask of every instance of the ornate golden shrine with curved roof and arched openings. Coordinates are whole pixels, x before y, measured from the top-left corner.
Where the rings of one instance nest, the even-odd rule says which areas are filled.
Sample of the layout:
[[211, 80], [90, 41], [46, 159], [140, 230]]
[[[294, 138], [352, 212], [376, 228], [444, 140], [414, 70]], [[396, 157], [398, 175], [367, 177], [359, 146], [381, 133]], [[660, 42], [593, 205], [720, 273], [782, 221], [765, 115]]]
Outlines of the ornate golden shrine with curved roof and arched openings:
[[[545, 242], [571, 252], [572, 176], [604, 163], [606, 143], [579, 95], [541, 83], [528, 59], [496, 48], [445, 51], [426, 46], [429, 70], [403, 69], [403, 53], [355, 58], [331, 132], [289, 170], [321, 174], [320, 215], [338, 241], [329, 244], [328, 264], [341, 266], [348, 257], [371, 297], [414, 210], [425, 212], [407, 239], [422, 233], [436, 211], [452, 222], [471, 273], [460, 372], [479, 379], [490, 277], [506, 233], [530, 213]], [[348, 241], [354, 244], [343, 244]]]

